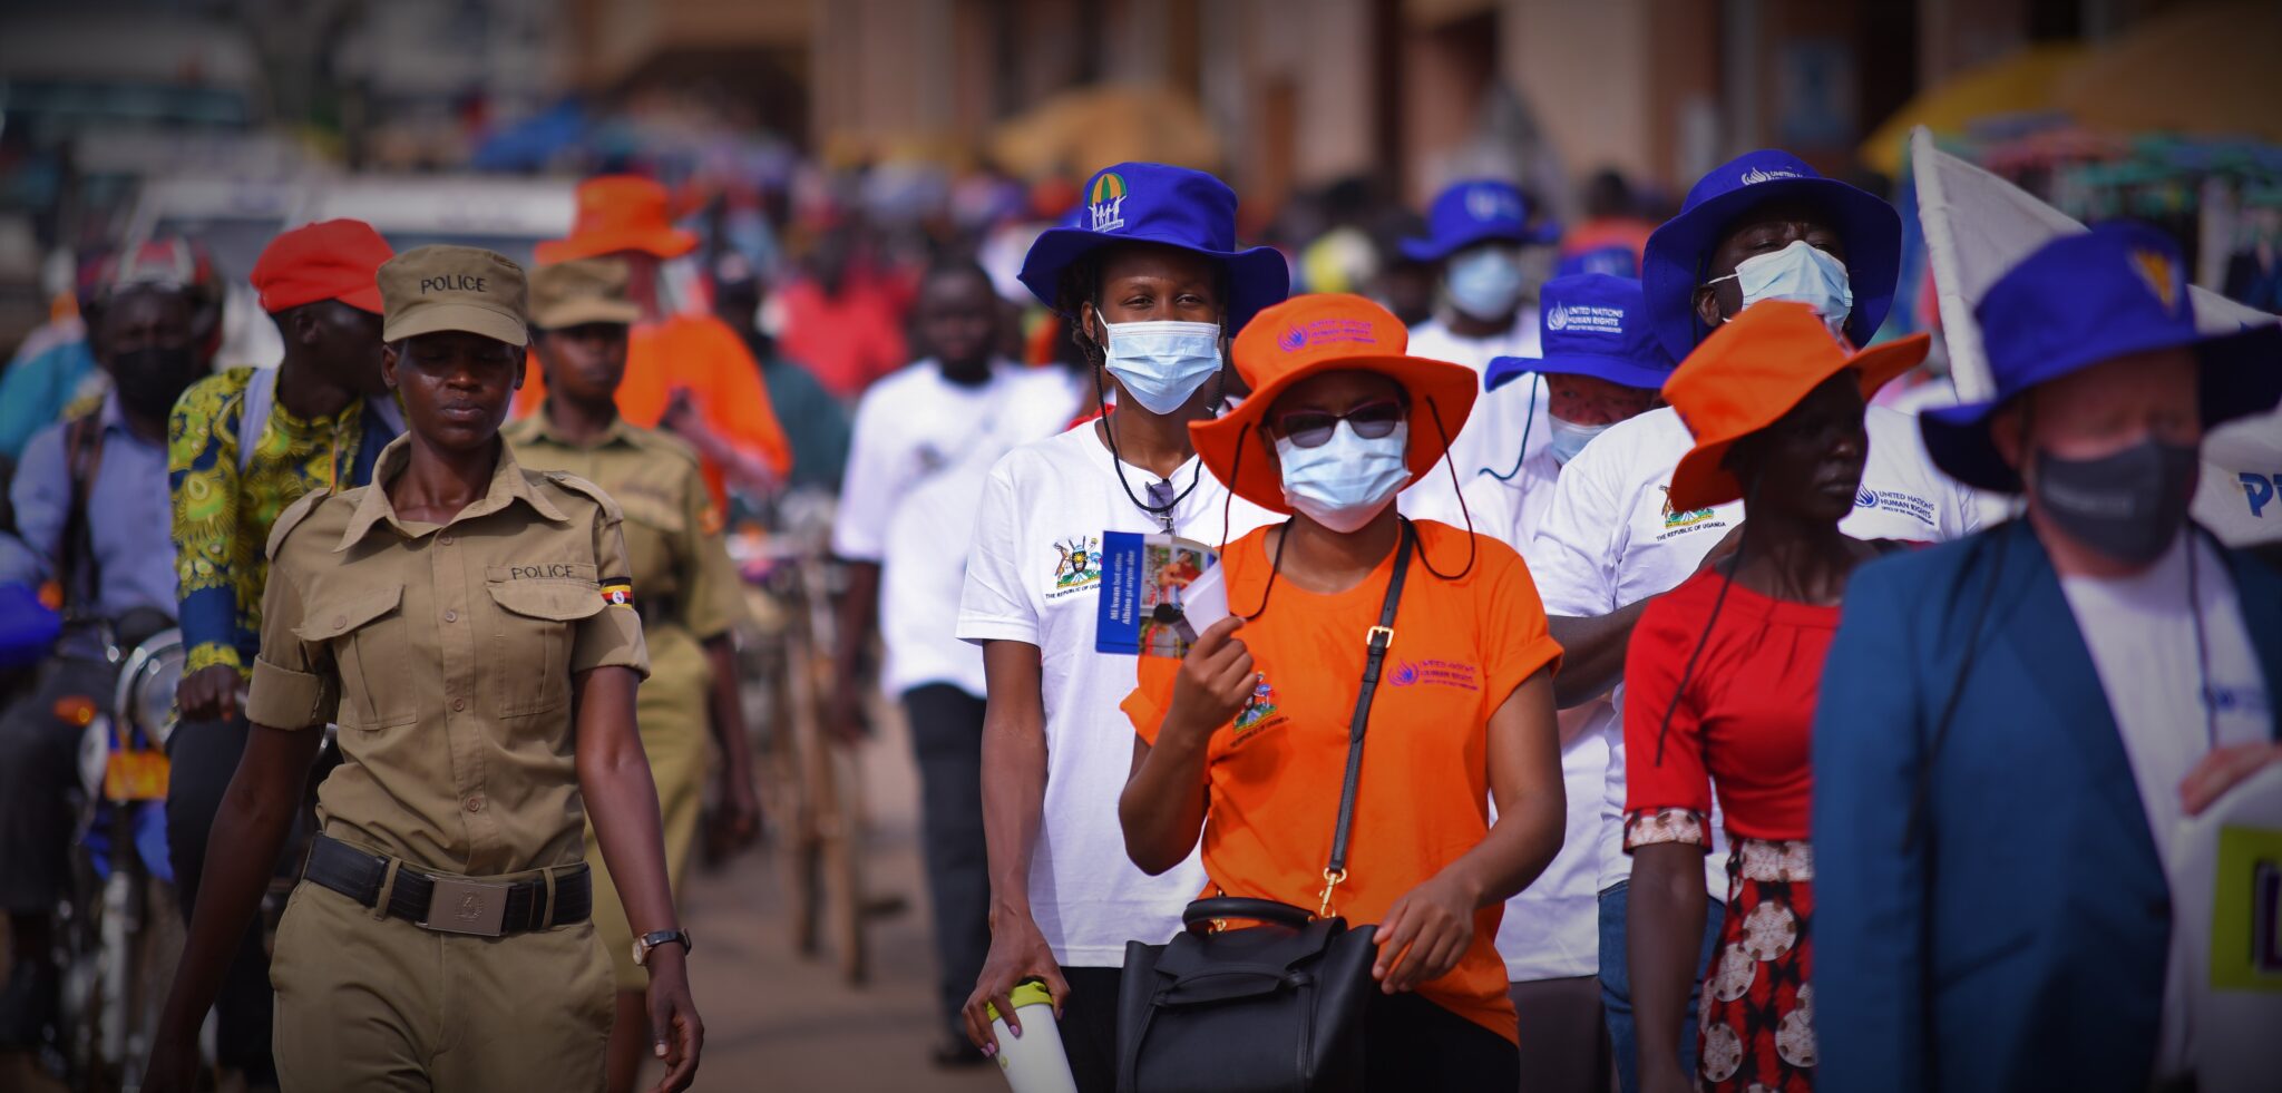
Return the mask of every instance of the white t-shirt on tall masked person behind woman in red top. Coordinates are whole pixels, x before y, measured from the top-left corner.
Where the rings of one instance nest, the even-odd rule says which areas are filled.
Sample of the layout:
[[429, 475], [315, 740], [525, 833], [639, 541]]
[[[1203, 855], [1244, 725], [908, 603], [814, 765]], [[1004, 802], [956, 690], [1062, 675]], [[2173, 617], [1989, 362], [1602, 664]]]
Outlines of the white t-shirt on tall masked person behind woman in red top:
[[[1917, 420], [1871, 406], [1869, 461], [1855, 511], [1839, 529], [1855, 539], [1901, 539], [1937, 543], [1972, 534], [1978, 516], [1972, 495], [1926, 459]], [[1552, 507], [1538, 527], [1529, 573], [1545, 598], [1545, 612], [1591, 618], [1670, 591], [1702, 564], [1743, 516], [1743, 502], [1714, 509], [1670, 511], [1664, 495], [1680, 456], [1696, 447], [1689, 427], [1670, 406], [1611, 424], [1561, 468]], [[1632, 876], [1623, 849], [1625, 828], [1625, 689], [1609, 696], [1616, 716], [1602, 728], [1609, 742], [1609, 776], [1600, 824], [1600, 890]], [[1712, 824], [1705, 885], [1727, 897], [1727, 851], [1721, 821]]]

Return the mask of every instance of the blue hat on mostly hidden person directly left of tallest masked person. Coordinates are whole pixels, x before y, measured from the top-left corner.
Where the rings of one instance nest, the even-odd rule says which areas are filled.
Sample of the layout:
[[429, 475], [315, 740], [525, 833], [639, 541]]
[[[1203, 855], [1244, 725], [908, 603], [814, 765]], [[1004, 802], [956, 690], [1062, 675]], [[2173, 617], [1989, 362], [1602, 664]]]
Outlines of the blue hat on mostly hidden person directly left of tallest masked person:
[[1595, 377], [1627, 388], [1659, 390], [1673, 374], [1673, 356], [1648, 326], [1641, 283], [1629, 276], [1556, 276], [1538, 294], [1543, 358], [1499, 356], [1483, 377], [1490, 390], [1538, 374]]

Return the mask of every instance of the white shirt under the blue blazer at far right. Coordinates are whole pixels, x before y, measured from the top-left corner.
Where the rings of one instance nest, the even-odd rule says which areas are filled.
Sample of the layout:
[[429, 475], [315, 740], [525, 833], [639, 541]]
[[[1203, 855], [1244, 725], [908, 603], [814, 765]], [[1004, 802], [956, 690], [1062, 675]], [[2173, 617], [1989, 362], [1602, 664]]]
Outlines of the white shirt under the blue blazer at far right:
[[[2188, 607], [2188, 566], [2193, 566], [2193, 607]], [[2115, 580], [2061, 577], [2061, 591], [2093, 653], [2099, 689], [2106, 691], [2125, 755], [2131, 758], [2131, 778], [2147, 810], [2147, 828], [2177, 888], [2172, 844], [2188, 819], [2179, 783], [2211, 751], [2214, 739], [2218, 746], [2271, 739], [2271, 680], [2259, 671], [2227, 561], [2200, 534], [2184, 532], [2145, 573]], [[2209, 721], [2204, 712], [2211, 714]], [[2156, 1077], [2179, 1075], [2193, 1059], [2193, 1029], [2184, 1020], [2184, 999], [2193, 990], [2188, 977], [2204, 965], [2204, 958], [2184, 952], [2184, 945], [2198, 936], [2209, 945], [2207, 931], [2172, 931]]]

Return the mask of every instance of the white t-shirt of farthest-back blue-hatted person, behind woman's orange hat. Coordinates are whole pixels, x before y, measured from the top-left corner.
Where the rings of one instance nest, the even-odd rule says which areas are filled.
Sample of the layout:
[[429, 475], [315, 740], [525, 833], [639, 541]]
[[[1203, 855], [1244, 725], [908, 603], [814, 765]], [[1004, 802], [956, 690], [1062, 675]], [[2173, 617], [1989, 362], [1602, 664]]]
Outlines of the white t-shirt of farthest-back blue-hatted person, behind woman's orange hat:
[[[1490, 338], [1458, 338], [1449, 333], [1445, 319], [1426, 319], [1410, 329], [1410, 349], [1406, 351], [1429, 361], [1451, 361], [1483, 377], [1490, 361], [1499, 356], [1538, 356], [1538, 306], [1522, 303], [1513, 329]], [[1467, 415], [1465, 427], [1449, 445], [1449, 463], [1458, 470], [1458, 481], [1474, 481], [1483, 468], [1506, 475], [1524, 456], [1543, 452], [1552, 440], [1545, 404], [1545, 381], [1536, 374], [1513, 379], [1497, 390], [1483, 390], [1474, 399], [1474, 413]], [[1429, 429], [1433, 427], [1429, 424]], [[1522, 450], [1524, 436], [1527, 452]], [[1454, 511], [1458, 491], [1449, 484], [1451, 468], [1438, 463], [1433, 472], [1403, 491], [1397, 502], [1403, 516], [1417, 520], [1426, 511]]]

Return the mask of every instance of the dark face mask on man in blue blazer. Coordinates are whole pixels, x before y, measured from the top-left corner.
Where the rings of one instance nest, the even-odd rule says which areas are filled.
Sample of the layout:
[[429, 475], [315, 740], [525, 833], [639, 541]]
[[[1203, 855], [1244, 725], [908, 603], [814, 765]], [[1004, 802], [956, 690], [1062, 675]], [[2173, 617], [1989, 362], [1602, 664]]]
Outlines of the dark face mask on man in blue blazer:
[[2200, 452], [2147, 438], [2099, 459], [2036, 454], [2036, 500], [2070, 539], [2127, 566], [2163, 554], [2195, 500]]

